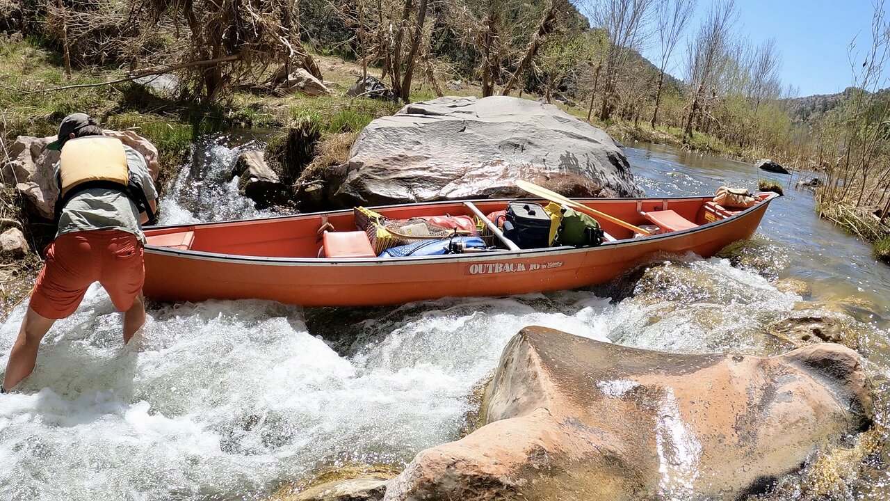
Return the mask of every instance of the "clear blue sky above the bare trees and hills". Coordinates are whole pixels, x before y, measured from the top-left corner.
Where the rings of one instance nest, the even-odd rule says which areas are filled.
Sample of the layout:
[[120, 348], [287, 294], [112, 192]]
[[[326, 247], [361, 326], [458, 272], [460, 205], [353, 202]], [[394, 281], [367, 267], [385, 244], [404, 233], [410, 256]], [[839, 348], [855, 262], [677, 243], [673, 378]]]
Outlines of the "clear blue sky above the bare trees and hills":
[[[710, 4], [711, 0], [699, 0], [686, 35], [707, 15]], [[754, 45], [774, 37], [782, 55], [782, 83], [799, 87], [800, 96], [844, 90], [851, 82], [847, 57], [851, 40], [859, 34], [856, 43], [862, 54], [870, 46], [872, 0], [736, 0], [736, 7], [736, 32]], [[886, 8], [890, 10], [890, 4]], [[681, 42], [668, 69], [678, 78], [683, 74], [684, 51]], [[656, 62], [658, 47], [643, 50], [643, 55]]]

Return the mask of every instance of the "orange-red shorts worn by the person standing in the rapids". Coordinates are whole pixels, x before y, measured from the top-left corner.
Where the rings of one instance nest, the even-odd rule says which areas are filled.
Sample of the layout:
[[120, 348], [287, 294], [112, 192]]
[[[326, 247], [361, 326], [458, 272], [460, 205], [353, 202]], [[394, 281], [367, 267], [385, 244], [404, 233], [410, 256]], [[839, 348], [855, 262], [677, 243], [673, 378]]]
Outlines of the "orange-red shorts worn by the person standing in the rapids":
[[30, 306], [40, 316], [64, 318], [93, 282], [102, 284], [118, 311], [130, 309], [145, 282], [142, 242], [119, 230], [61, 235], [46, 247]]

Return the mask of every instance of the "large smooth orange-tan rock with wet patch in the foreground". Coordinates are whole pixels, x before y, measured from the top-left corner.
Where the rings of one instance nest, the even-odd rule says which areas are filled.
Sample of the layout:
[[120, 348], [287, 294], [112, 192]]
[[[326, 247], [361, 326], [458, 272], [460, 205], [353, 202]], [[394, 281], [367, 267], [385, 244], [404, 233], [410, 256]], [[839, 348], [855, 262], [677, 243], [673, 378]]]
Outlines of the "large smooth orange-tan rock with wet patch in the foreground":
[[528, 327], [501, 356], [484, 426], [420, 452], [414, 499], [735, 499], [870, 425], [859, 356], [679, 355]]

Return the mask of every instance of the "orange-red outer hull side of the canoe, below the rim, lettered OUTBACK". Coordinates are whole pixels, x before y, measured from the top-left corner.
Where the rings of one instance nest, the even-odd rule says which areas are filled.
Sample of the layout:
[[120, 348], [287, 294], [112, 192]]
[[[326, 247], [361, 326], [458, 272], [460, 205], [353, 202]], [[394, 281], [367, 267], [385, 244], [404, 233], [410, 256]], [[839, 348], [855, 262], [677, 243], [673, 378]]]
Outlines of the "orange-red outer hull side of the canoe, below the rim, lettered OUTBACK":
[[609, 282], [659, 252], [713, 256], [750, 238], [769, 201], [692, 230], [582, 249], [332, 261], [148, 246], [144, 292], [162, 301], [255, 298], [352, 307], [574, 289]]

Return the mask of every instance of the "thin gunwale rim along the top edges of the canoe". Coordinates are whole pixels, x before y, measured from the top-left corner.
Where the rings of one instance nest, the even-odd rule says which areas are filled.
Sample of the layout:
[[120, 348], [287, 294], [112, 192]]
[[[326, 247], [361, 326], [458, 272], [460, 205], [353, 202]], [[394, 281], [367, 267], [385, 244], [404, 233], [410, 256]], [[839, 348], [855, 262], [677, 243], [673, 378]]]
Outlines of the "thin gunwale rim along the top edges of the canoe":
[[[482, 253], [474, 253], [474, 254], [446, 254], [441, 256], [417, 256], [417, 257], [406, 257], [406, 258], [352, 258], [352, 259], [324, 259], [324, 258], [282, 258], [282, 257], [269, 257], [269, 256], [247, 256], [241, 254], [223, 254], [219, 252], [208, 252], [206, 250], [182, 250], [182, 249], [173, 249], [169, 247], [161, 247], [154, 245], [146, 245], [145, 252], [150, 254], [158, 254], [167, 257], [178, 257], [183, 259], [198, 259], [198, 260], [209, 260], [209, 261], [217, 261], [217, 262], [226, 262], [226, 263], [241, 263], [241, 264], [253, 264], [259, 266], [301, 266], [301, 267], [367, 267], [367, 266], [411, 266], [423, 263], [449, 263], [449, 262], [484, 262], [490, 260], [504, 260], [504, 259], [522, 259], [522, 258], [539, 258], [542, 256], [562, 256], [565, 254], [573, 254], [573, 253], [587, 253], [587, 252], [595, 252], [597, 250], [613, 250], [619, 247], [631, 247], [635, 245], [646, 245], [651, 244], [652, 242], [660, 242], [673, 240], [676, 238], [684, 238], [689, 236], [690, 234], [706, 232], [711, 230], [717, 226], [732, 224], [742, 218], [746, 218], [752, 215], [757, 210], [765, 210], [769, 203], [773, 201], [778, 194], [770, 193], [765, 199], [757, 203], [756, 205], [749, 207], [748, 209], [741, 210], [738, 214], [734, 214], [729, 218], [720, 219], [718, 221], [712, 221], [704, 225], [695, 226], [693, 228], [689, 228], [682, 231], [671, 232], [667, 234], [656, 234], [651, 236], [646, 236], [643, 238], [631, 238], [624, 240], [617, 240], [614, 242], [603, 242], [601, 245], [596, 247], [571, 247], [571, 246], [561, 246], [561, 247], [546, 247], [541, 249], [524, 249], [524, 250], [495, 250], [490, 252], [482, 252]], [[711, 199], [712, 195], [707, 196], [684, 196], [684, 197], [659, 197], [659, 198], [651, 198], [651, 199], [627, 199], [627, 198], [612, 198], [612, 199], [577, 199], [578, 201], [679, 201], [679, 200], [701, 200], [701, 199]], [[482, 199], [482, 200], [473, 200], [477, 202], [497, 202], [497, 201], [514, 201], [516, 199]], [[529, 200], [537, 200], [537, 199], [529, 199]], [[386, 206], [377, 206], [369, 209], [392, 209], [399, 207], [407, 207], [407, 206], [434, 206], [434, 205], [449, 205], [453, 204], [456, 201], [436, 201], [436, 202], [417, 202], [411, 204], [394, 204], [394, 205], [386, 205]], [[283, 216], [272, 216], [270, 218], [262, 218], [260, 220], [267, 221], [273, 219], [282, 219], [282, 218], [303, 218], [303, 217], [312, 217], [321, 214], [337, 214], [337, 213], [346, 213], [352, 212], [352, 209], [342, 209], [342, 210], [333, 210], [333, 211], [320, 211], [320, 212], [311, 212], [307, 214], [297, 214], [297, 215], [283, 215]], [[215, 221], [209, 223], [193, 223], [186, 225], [166, 225], [166, 226], [151, 226], [150, 228], [146, 228], [146, 230], [166, 230], [172, 228], [193, 228], [196, 226], [212, 226], [212, 225], [220, 225], [220, 224], [255, 224], [258, 219], [238, 219], [232, 221]]]

